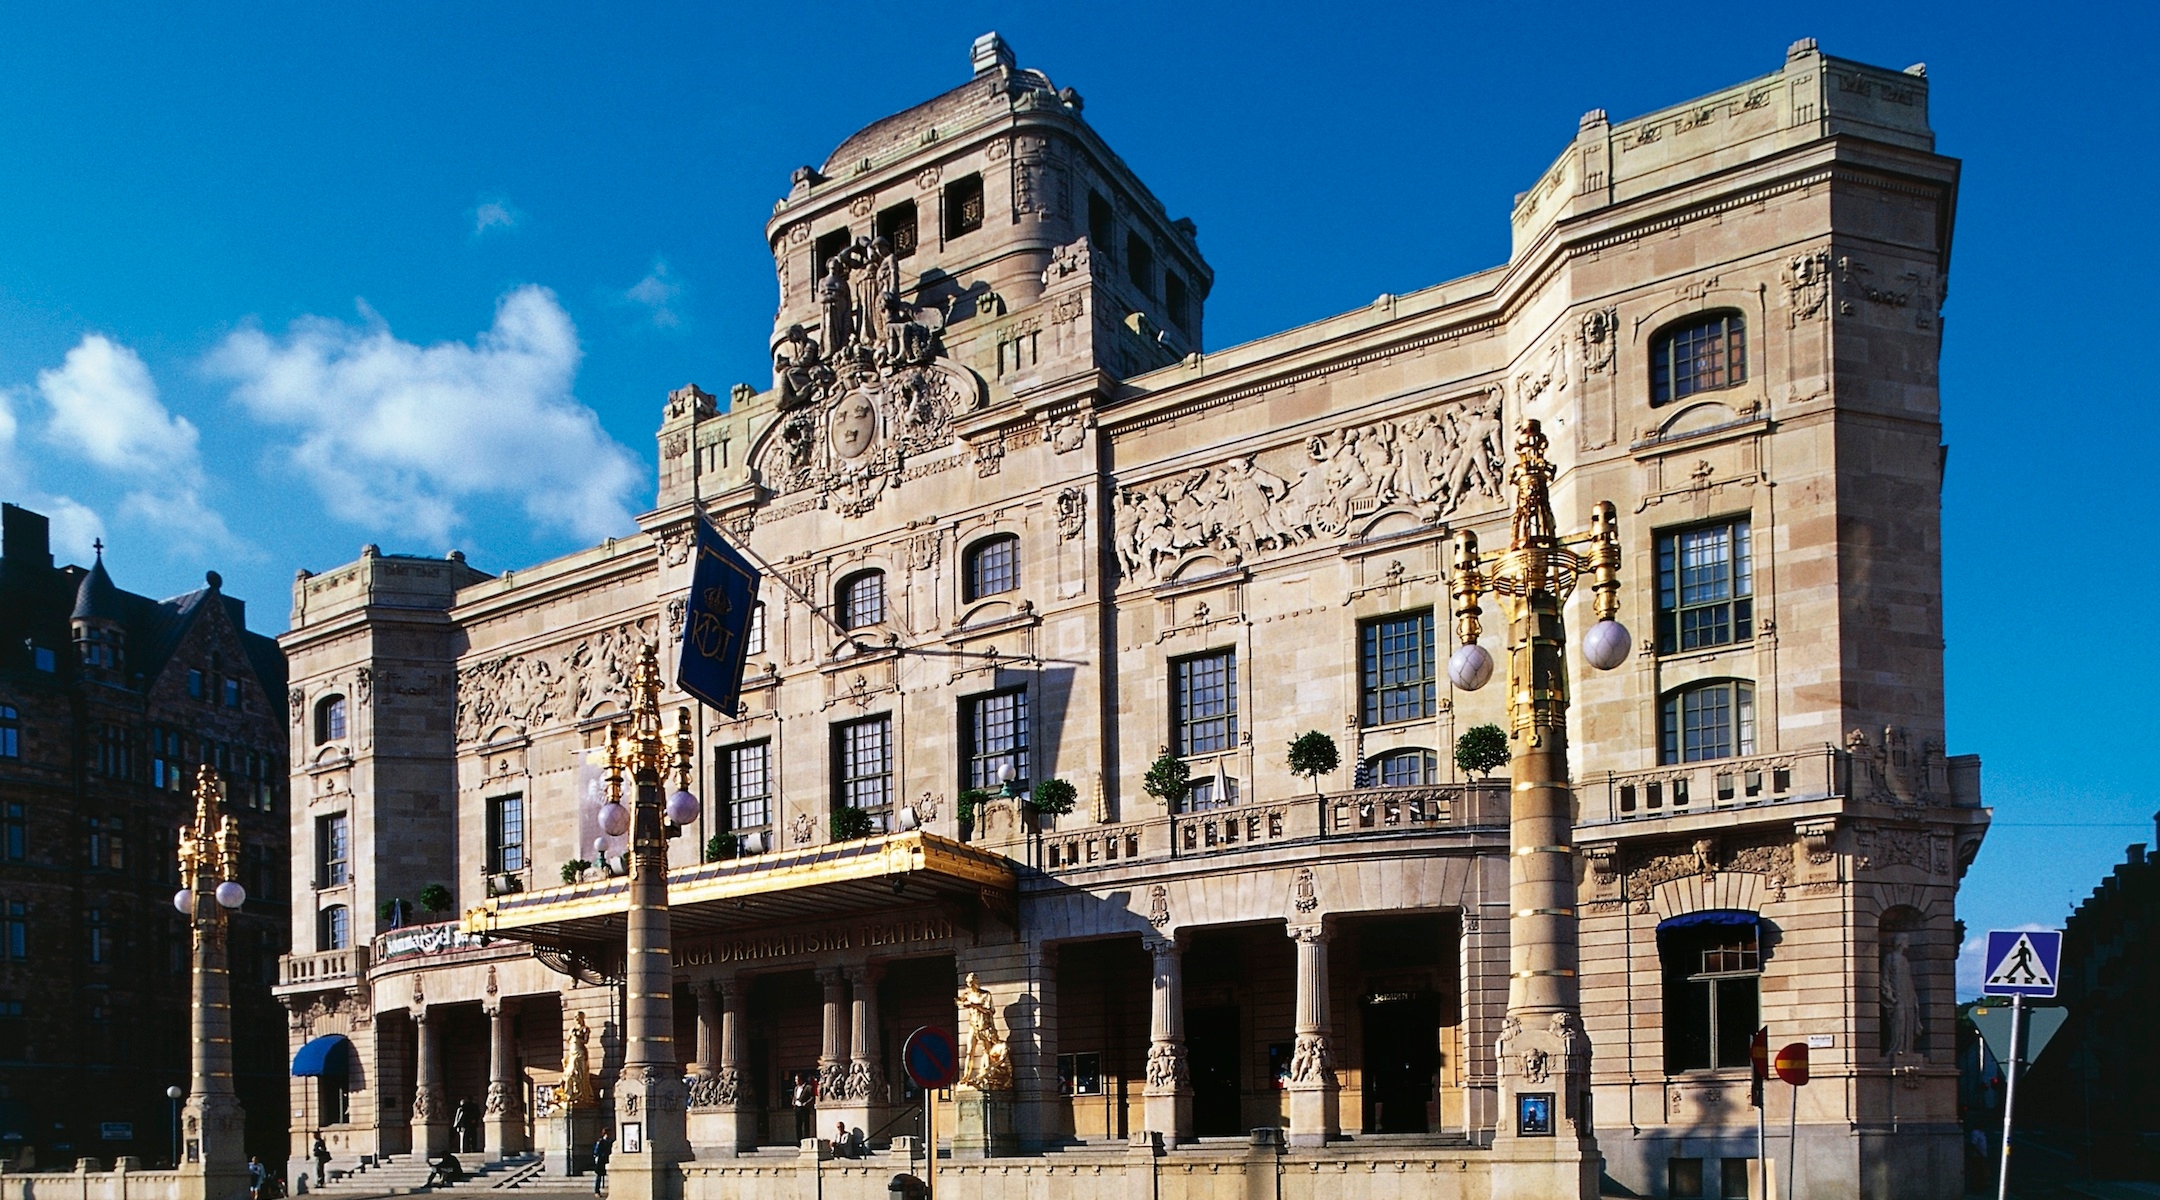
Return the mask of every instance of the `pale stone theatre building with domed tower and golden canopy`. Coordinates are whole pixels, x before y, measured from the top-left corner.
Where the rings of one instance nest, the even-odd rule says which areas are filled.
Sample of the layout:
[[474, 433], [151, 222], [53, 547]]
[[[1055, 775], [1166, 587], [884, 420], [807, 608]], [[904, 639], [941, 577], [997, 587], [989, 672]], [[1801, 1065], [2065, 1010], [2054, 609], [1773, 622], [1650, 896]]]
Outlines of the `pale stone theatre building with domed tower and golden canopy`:
[[[1510, 788], [1452, 755], [1506, 688], [1439, 663], [1447, 542], [1506, 542], [1538, 419], [1560, 524], [1618, 503], [1639, 639], [1575, 678], [1577, 1133], [1633, 1194], [1745, 1196], [1767, 1025], [1814, 1047], [1769, 1146], [1804, 1194], [1957, 1196], [1953, 902], [1987, 814], [1944, 749], [1933, 147], [1925, 69], [1801, 41], [1588, 112], [1506, 263], [1207, 350], [1194, 224], [981, 39], [795, 173], [773, 376], [667, 397], [639, 535], [296, 581], [279, 991], [296, 1051], [343, 1042], [294, 1107], [346, 1161], [443, 1150], [467, 1103], [488, 1157], [566, 1165], [577, 1042], [635, 1120], [596, 747], [642, 645], [674, 656], [704, 516], [771, 570], [672, 855], [685, 1196], [881, 1194], [907, 1142], [801, 1137], [914, 1135], [901, 1040], [970, 973], [1011, 1088], [942, 1189], [1510, 1194]], [[1311, 729], [1341, 768], [1294, 777]], [[1071, 812], [1024, 803], [1045, 779]], [[873, 833], [836, 840], [842, 809]], [[432, 883], [451, 913], [389, 928]]]

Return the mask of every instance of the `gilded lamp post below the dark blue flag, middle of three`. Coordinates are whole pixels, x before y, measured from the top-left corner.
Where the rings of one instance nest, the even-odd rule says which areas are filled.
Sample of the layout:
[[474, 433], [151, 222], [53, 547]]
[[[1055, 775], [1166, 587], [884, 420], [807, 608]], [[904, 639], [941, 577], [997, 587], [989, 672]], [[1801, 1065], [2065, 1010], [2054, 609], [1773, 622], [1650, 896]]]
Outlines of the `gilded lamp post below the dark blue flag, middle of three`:
[[[667, 915], [667, 840], [698, 820], [689, 792], [689, 708], [676, 710], [674, 745], [661, 732], [659, 652], [646, 645], [631, 680], [631, 719], [607, 736], [607, 803], [600, 831], [631, 835], [631, 909], [624, 954], [622, 1073], [616, 1075], [616, 1200], [665, 1200], [680, 1191], [689, 1159], [687, 1090], [674, 1047], [674, 956]], [[665, 801], [661, 786], [676, 775]], [[624, 788], [629, 783], [629, 788]], [[624, 799], [629, 794], [629, 799]]]

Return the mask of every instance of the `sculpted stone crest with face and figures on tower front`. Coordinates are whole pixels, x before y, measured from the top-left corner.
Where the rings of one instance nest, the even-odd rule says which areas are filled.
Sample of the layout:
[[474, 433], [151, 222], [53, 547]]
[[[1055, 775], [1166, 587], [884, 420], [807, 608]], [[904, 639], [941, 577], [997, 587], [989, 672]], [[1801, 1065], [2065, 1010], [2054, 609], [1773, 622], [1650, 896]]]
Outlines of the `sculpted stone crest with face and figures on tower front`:
[[834, 255], [816, 298], [819, 328], [788, 326], [773, 347], [780, 417], [752, 462], [773, 494], [814, 492], [862, 516], [909, 455], [953, 445], [953, 419], [985, 401], [983, 380], [946, 358], [946, 313], [901, 294], [883, 237]]

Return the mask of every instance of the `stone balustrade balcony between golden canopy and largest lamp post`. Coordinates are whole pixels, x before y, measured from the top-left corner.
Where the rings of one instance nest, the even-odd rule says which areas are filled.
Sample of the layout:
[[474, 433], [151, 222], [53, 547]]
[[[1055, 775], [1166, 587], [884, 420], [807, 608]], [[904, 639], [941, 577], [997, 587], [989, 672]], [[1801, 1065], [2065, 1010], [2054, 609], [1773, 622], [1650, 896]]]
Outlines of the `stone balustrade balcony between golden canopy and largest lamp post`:
[[1043, 833], [1043, 870], [1231, 855], [1270, 844], [1508, 824], [1508, 781], [1363, 788]]

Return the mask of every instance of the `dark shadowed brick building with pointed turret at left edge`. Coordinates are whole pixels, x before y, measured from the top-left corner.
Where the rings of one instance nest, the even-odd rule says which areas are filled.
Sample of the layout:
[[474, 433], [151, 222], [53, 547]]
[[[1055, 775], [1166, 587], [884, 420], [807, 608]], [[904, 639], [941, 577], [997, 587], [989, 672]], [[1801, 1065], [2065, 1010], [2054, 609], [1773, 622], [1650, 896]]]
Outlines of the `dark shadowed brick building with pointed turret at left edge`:
[[[188, 1081], [188, 941], [173, 891], [194, 768], [227, 781], [248, 902], [233, 1017], [279, 1029], [285, 950], [285, 656], [207, 587], [151, 600], [52, 563], [48, 520], [0, 522], [0, 1155], [173, 1157]], [[283, 1047], [235, 1045], [248, 1148], [281, 1155]]]

